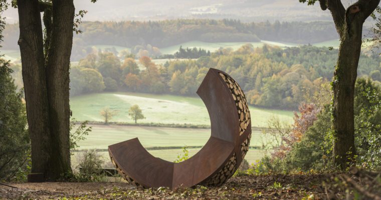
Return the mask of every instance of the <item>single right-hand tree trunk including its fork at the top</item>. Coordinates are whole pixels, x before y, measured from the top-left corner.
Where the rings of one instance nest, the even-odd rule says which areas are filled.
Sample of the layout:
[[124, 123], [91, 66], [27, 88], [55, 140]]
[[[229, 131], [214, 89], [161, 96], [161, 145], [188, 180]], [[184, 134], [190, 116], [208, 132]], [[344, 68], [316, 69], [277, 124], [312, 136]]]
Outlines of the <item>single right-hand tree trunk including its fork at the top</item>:
[[359, 0], [346, 10], [341, 0], [319, 0], [331, 11], [340, 36], [340, 48], [333, 78], [333, 157], [345, 169], [356, 153], [354, 145], [354, 84], [361, 52], [362, 25], [380, 0]]

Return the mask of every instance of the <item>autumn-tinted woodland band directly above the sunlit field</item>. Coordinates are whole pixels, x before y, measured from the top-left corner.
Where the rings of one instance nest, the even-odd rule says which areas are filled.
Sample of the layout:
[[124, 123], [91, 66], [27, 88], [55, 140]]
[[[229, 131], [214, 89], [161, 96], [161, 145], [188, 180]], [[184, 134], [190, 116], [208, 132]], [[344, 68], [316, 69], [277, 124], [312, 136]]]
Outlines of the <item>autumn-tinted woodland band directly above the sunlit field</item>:
[[[250, 104], [295, 109], [301, 102], [330, 98], [337, 50], [305, 45], [279, 48], [243, 45], [220, 49], [198, 59], [168, 60], [155, 64], [149, 57], [120, 61], [112, 52], [91, 53], [70, 72], [71, 95], [101, 91], [134, 91], [196, 95], [210, 67], [226, 71], [244, 89]], [[140, 63], [140, 68], [139, 64]], [[377, 56], [361, 55], [358, 76], [370, 76], [381, 85]], [[329, 91], [328, 91], [329, 92]]]

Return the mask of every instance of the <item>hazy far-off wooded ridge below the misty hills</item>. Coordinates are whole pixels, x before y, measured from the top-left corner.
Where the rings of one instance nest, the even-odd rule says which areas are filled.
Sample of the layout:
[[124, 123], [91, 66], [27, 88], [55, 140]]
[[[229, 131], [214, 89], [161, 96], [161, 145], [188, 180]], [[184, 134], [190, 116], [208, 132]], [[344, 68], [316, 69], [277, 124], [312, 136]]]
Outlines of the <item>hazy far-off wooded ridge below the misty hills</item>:
[[[338, 38], [332, 22], [243, 23], [234, 19], [176, 19], [162, 21], [85, 21], [73, 40], [72, 61], [90, 53], [91, 45], [167, 47], [187, 41], [254, 42], [262, 40], [315, 43]], [[5, 49], [17, 49], [19, 25], [7, 24]]]

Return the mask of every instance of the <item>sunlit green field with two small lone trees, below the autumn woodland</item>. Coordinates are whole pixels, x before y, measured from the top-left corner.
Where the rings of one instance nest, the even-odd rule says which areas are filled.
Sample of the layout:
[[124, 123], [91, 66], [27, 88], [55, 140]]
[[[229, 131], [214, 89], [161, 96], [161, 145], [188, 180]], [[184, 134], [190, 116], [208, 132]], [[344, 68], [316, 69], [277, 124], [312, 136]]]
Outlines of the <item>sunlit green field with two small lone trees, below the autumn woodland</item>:
[[[128, 116], [131, 105], [138, 104], [145, 119], [144, 123], [176, 123], [210, 125], [209, 114], [204, 102], [198, 97], [147, 93], [96, 93], [74, 96], [70, 99], [73, 117], [77, 120], [103, 121], [100, 111], [104, 107], [118, 110], [111, 121], [134, 122]], [[276, 115], [281, 121], [292, 122], [293, 112], [249, 106], [252, 126], [265, 127], [267, 120]]]

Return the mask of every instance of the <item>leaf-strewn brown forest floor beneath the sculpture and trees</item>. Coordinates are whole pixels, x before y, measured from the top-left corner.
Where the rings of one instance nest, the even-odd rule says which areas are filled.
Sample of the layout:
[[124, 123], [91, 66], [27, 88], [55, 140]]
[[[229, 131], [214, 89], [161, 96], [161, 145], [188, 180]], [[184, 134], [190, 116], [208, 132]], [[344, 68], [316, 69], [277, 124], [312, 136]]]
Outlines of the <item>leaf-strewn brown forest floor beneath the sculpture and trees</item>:
[[[220, 187], [140, 189], [126, 182], [43, 182], [0, 185], [0, 199], [377, 199], [381, 173], [241, 175]], [[13, 186], [13, 187], [10, 187]]]

